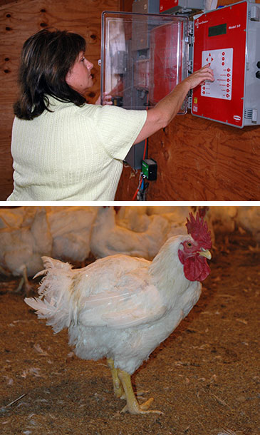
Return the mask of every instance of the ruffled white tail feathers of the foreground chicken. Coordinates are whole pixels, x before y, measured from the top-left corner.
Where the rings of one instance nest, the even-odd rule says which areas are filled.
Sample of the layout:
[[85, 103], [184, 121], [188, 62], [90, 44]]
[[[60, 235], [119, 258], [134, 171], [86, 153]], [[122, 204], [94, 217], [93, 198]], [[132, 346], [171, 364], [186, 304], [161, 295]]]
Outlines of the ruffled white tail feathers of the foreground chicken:
[[36, 310], [39, 318], [48, 320], [47, 324], [53, 327], [54, 332], [59, 332], [68, 327], [76, 315], [70, 292], [72, 267], [51, 257], [42, 257], [42, 260], [46, 269], [37, 275], [46, 276], [38, 289], [39, 297], [26, 297], [24, 301]]

